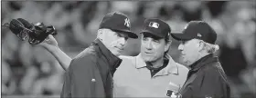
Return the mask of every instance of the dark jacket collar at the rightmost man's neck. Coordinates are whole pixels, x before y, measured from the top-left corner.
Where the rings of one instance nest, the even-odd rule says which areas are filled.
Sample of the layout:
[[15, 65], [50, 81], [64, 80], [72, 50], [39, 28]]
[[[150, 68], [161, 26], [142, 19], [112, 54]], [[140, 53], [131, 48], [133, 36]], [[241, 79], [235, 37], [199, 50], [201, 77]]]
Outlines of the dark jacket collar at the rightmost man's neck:
[[191, 64], [190, 68], [192, 71], [197, 71], [201, 67], [203, 67], [209, 63], [212, 63], [212, 62], [219, 62], [219, 59], [218, 59], [218, 57], [214, 56], [213, 54], [208, 54], [208, 55], [200, 58], [199, 60], [197, 60], [196, 63]]

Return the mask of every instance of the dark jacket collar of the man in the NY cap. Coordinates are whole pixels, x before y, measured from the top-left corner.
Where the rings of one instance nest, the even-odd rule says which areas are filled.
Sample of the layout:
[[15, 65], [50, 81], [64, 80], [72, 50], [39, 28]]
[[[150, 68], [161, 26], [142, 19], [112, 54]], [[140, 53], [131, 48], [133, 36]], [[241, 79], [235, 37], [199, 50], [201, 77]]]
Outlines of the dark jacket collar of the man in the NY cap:
[[121, 64], [122, 59], [112, 54], [112, 52], [107, 49], [107, 47], [102, 44], [99, 39], [94, 40], [92, 44], [96, 47], [98, 55], [100, 57], [103, 56], [104, 58], [106, 58], [109, 65], [113, 65], [110, 67], [117, 68]]

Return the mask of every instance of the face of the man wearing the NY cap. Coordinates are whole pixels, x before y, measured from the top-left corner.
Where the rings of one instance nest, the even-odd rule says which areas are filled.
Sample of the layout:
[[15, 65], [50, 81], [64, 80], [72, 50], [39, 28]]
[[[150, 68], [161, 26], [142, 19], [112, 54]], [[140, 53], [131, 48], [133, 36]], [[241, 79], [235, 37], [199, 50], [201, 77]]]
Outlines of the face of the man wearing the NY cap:
[[112, 54], [119, 56], [127, 42], [128, 34], [104, 29], [104, 33], [101, 34], [101, 39], [101, 42], [105, 44]]

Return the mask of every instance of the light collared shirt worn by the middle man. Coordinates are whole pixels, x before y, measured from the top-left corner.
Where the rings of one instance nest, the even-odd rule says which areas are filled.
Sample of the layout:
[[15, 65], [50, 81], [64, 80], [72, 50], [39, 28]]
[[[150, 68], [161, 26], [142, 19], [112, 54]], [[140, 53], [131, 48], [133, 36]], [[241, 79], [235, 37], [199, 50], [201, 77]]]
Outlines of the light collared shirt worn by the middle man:
[[120, 56], [122, 64], [113, 75], [114, 97], [167, 97], [167, 90], [177, 92], [185, 83], [188, 69], [167, 55], [168, 65], [154, 76], [141, 56]]

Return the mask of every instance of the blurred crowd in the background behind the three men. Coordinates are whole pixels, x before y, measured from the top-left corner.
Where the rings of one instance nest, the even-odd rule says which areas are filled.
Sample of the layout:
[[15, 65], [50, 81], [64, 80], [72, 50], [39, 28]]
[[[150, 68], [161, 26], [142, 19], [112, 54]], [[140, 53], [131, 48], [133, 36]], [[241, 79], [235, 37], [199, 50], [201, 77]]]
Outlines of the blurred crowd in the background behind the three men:
[[[219, 61], [229, 76], [234, 96], [256, 97], [256, 3], [255, 1], [2, 1], [2, 24], [14, 18], [54, 25], [59, 47], [74, 57], [96, 37], [102, 17], [119, 11], [131, 19], [132, 31], [140, 32], [145, 18], [165, 20], [180, 33], [187, 22], [204, 20], [218, 33]], [[42, 47], [19, 40], [2, 27], [2, 94], [58, 95], [64, 70]], [[140, 38], [131, 39], [124, 55], [136, 55]], [[179, 42], [169, 54], [178, 63]]]

